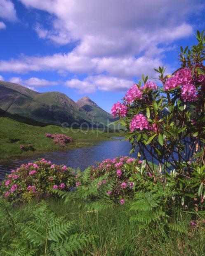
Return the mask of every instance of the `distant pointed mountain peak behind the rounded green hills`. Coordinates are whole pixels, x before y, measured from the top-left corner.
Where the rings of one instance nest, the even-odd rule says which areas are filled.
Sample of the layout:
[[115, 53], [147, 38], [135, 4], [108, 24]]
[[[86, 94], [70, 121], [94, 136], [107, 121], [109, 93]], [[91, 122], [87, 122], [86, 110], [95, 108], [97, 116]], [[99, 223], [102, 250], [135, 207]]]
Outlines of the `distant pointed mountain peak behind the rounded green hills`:
[[107, 125], [114, 121], [111, 114], [101, 109], [101, 107], [99, 107], [94, 101], [90, 100], [87, 96], [82, 97], [76, 103], [93, 117], [94, 122], [104, 123]]

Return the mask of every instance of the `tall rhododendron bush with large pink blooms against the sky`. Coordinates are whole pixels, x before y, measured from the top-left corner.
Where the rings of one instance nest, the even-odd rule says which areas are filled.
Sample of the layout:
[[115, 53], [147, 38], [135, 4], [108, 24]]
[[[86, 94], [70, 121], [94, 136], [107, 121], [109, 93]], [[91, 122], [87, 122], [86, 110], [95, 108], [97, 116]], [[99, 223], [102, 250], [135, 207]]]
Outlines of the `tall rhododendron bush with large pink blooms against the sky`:
[[[205, 36], [197, 31], [198, 45], [181, 47], [180, 67], [171, 75], [165, 68], [156, 81], [142, 80], [130, 88], [122, 103], [112, 107], [113, 117], [126, 128], [126, 139], [132, 143], [132, 152], [139, 149], [139, 156], [153, 160], [167, 170], [186, 166], [200, 157], [204, 164], [205, 141]], [[148, 162], [147, 162], [148, 164]], [[152, 172], [153, 166], [148, 164]]]

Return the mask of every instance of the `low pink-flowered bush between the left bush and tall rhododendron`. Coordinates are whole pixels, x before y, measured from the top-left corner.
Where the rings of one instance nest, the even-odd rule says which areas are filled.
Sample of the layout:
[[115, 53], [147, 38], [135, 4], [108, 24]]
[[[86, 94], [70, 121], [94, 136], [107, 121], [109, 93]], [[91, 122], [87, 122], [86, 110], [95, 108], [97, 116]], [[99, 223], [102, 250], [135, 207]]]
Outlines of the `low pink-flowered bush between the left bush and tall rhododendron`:
[[[137, 168], [139, 170], [140, 166], [141, 161], [139, 159], [128, 156], [105, 159], [102, 162], [98, 162], [97, 166], [91, 167], [90, 182], [93, 179], [101, 178], [97, 183], [99, 190], [103, 189], [103, 186], [111, 183], [112, 186], [107, 190], [108, 197], [118, 201], [120, 204], [124, 204], [125, 199], [131, 199], [134, 196], [136, 185], [135, 175], [137, 175]], [[149, 178], [148, 172], [146, 176]], [[80, 177], [78, 179], [80, 180]], [[80, 184], [76, 183], [76, 186]]]

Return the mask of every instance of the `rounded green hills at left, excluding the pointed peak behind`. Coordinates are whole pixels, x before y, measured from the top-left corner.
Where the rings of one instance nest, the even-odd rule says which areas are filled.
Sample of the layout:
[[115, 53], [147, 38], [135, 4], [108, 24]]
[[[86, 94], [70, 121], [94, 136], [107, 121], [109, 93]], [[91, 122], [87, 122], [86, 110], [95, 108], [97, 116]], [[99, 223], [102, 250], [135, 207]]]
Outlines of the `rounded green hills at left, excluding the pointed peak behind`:
[[60, 92], [39, 93], [24, 86], [0, 81], [0, 109], [38, 122], [61, 125], [91, 123], [92, 116]]

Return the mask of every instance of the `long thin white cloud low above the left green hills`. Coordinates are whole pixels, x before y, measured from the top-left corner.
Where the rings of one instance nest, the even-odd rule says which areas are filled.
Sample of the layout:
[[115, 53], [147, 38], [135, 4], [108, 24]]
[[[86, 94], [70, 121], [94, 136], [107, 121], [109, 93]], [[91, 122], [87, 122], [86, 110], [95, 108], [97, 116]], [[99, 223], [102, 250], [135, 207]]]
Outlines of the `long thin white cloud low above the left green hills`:
[[58, 82], [55, 82], [55, 81], [47, 81], [45, 79], [39, 79], [37, 77], [31, 77], [26, 80], [22, 80], [21, 77], [12, 77], [10, 78], [9, 82], [18, 83], [20, 85], [24, 85], [31, 89], [35, 89], [36, 87], [41, 88], [41, 87], [59, 84]]

